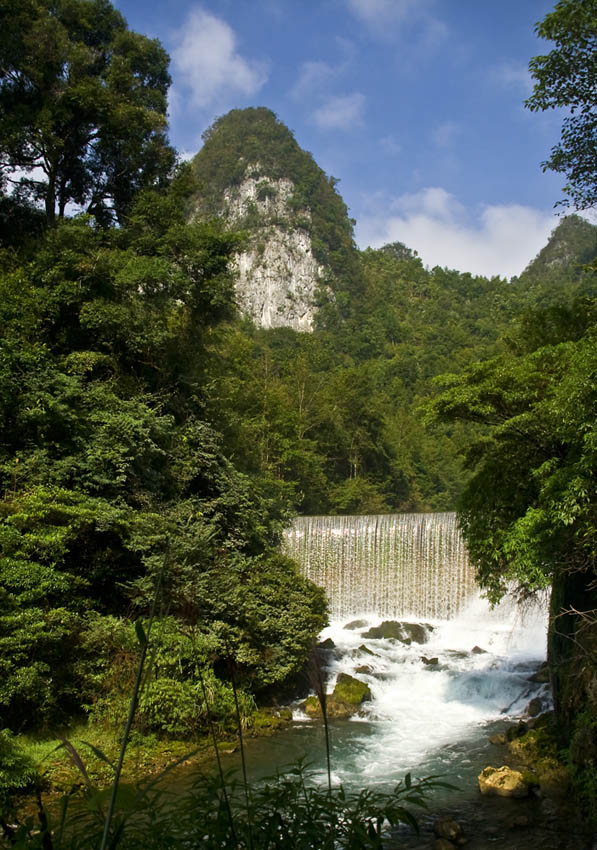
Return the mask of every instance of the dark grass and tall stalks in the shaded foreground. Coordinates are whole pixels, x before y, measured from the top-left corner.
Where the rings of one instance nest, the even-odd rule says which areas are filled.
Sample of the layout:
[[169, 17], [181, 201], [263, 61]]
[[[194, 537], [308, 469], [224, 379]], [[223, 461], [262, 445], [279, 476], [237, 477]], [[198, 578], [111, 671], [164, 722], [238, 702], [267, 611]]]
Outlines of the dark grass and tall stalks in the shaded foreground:
[[333, 786], [325, 679], [316, 649], [309, 677], [322, 708], [327, 788], [318, 784], [314, 772], [302, 762], [259, 784], [249, 785], [232, 658], [230, 678], [242, 781], [223, 770], [207, 688], [198, 671], [217, 774], [199, 774], [184, 792], [174, 792], [166, 780], [190, 755], [186, 754], [150, 782], [136, 786], [122, 783], [122, 767], [143, 685], [160, 581], [147, 631], [141, 624], [137, 627], [141, 654], [117, 763], [113, 765], [101, 750], [88, 745], [113, 770], [111, 787], [98, 790], [77, 750], [71, 742], [63, 740], [62, 746], [81, 773], [83, 790], [76, 795], [65, 795], [58, 806], [48, 806], [40, 784], [35, 784], [37, 817], [16, 824], [0, 819], [3, 846], [14, 850], [363, 850], [382, 848], [389, 831], [398, 824], [418, 829], [413, 810], [426, 806], [433, 788], [445, 787], [437, 777], [413, 783], [407, 775], [390, 791], [350, 792], [341, 785]]

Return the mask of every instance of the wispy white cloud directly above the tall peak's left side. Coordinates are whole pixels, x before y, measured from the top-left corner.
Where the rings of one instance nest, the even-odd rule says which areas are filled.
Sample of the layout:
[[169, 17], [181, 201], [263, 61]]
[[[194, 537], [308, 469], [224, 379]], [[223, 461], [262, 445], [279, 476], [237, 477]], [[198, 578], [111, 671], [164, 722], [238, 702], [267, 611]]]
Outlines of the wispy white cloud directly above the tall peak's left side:
[[192, 8], [171, 48], [172, 107], [208, 107], [229, 95], [255, 94], [267, 79], [265, 64], [238, 52], [234, 30], [200, 7]]

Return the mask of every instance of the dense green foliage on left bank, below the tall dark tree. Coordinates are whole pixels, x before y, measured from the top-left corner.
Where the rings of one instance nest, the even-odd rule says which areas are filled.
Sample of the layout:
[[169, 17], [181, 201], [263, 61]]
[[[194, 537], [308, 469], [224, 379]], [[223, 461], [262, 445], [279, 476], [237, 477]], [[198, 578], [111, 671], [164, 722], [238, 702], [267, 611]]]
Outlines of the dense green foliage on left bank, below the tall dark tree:
[[126, 621], [158, 583], [177, 625], [157, 631], [172, 657], [141, 705], [149, 729], [201, 728], [198, 668], [215, 715], [232, 711], [230, 664], [254, 693], [285, 681], [324, 622], [321, 592], [274, 550], [284, 500], [203, 416], [205, 336], [232, 314], [238, 239], [185, 223], [187, 177], [141, 193], [126, 228], [65, 221], [2, 257], [0, 705], [14, 729], [84, 706], [119, 720]]

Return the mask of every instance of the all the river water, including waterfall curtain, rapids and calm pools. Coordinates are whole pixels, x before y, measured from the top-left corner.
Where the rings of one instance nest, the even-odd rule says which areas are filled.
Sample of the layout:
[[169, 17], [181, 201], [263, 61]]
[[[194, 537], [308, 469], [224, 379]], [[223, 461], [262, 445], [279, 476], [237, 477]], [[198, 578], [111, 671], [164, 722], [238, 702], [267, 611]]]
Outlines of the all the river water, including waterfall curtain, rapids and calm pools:
[[[546, 600], [491, 610], [454, 514], [302, 517], [284, 548], [330, 601], [332, 622], [321, 635], [334, 645], [324, 653], [328, 692], [340, 672], [371, 690], [358, 715], [330, 724], [333, 782], [389, 788], [410, 772], [456, 786], [436, 791], [421, 835], [400, 834], [396, 846], [431, 847], [434, 821], [448, 814], [462, 823], [469, 850], [597, 850], [566, 798], [488, 799], [478, 790], [481, 770], [507, 761], [489, 736], [535, 697], [550, 708], [549, 686], [530, 681], [546, 656]], [[366, 637], [388, 619], [425, 623], [425, 642]], [[250, 777], [299, 758], [326, 781], [321, 721], [297, 703], [289, 730], [250, 742]]]

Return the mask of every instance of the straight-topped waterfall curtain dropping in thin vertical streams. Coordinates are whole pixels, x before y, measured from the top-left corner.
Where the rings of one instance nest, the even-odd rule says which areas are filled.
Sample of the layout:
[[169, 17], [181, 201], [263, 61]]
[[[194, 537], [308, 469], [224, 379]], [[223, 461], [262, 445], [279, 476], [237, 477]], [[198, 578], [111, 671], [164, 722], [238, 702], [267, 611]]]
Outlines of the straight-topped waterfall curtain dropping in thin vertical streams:
[[333, 620], [451, 619], [478, 592], [454, 513], [299, 517], [283, 546], [325, 588]]

